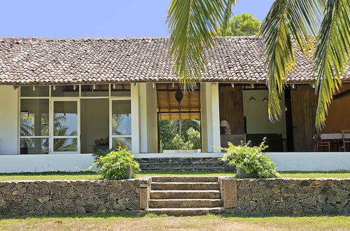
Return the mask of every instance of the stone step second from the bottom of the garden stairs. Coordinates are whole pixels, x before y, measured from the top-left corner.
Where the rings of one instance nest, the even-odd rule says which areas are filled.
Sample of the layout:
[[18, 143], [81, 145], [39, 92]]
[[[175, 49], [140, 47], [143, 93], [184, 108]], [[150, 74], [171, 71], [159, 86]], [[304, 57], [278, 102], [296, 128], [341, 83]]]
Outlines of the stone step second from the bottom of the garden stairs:
[[221, 199], [153, 199], [149, 201], [150, 208], [201, 208], [222, 207]]

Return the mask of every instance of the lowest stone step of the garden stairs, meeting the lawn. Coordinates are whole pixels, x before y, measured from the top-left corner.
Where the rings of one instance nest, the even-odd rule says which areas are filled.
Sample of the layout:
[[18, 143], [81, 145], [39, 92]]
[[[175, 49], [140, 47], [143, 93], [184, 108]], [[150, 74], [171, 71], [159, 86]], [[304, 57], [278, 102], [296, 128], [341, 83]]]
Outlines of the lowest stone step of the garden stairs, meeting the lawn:
[[224, 211], [224, 208], [161, 208], [147, 209], [146, 211], [154, 214], [167, 214], [170, 216], [201, 216], [206, 214], [219, 214]]

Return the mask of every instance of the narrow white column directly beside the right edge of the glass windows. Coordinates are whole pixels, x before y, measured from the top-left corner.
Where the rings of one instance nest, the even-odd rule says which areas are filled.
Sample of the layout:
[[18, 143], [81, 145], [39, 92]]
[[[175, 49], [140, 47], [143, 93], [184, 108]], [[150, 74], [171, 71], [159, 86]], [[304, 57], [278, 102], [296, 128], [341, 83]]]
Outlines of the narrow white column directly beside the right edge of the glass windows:
[[140, 153], [139, 83], [131, 83], [132, 153]]

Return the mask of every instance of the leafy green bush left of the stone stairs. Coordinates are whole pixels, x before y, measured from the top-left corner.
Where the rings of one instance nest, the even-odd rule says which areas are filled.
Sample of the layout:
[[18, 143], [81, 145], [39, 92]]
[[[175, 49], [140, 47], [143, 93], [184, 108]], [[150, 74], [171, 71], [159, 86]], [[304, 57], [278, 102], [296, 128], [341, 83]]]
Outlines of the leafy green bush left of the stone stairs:
[[125, 178], [127, 167], [132, 167], [134, 174], [141, 171], [139, 163], [134, 160], [134, 155], [127, 148], [119, 148], [118, 151], [111, 151], [107, 155], [99, 156], [92, 167], [99, 167], [97, 173], [101, 174], [105, 180]]

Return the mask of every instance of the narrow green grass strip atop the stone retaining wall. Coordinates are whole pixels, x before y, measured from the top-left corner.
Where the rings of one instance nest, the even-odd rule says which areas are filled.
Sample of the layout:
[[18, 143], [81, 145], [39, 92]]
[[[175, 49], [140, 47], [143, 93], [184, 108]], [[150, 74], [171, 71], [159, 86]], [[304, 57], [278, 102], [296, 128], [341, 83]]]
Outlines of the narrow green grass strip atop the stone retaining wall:
[[[231, 176], [237, 177], [235, 172], [188, 172], [188, 171], [144, 171], [136, 177], [143, 176]], [[281, 172], [282, 177], [290, 178], [350, 178], [350, 172]], [[38, 181], [38, 180], [96, 180], [101, 176], [94, 172], [43, 172], [0, 174], [0, 181]]]

